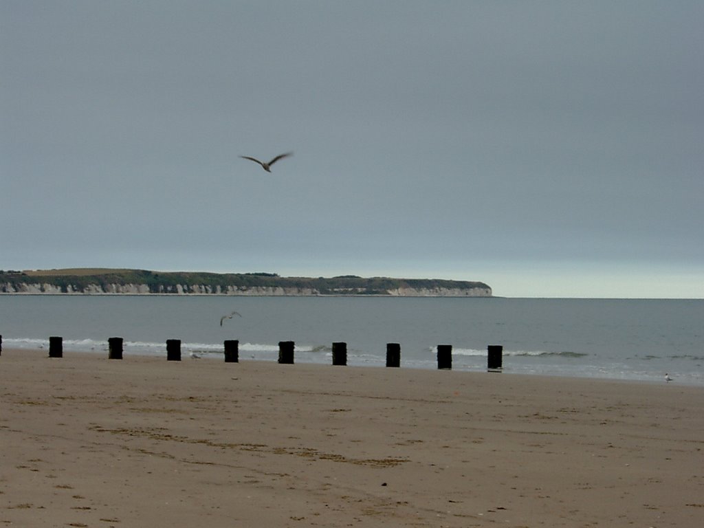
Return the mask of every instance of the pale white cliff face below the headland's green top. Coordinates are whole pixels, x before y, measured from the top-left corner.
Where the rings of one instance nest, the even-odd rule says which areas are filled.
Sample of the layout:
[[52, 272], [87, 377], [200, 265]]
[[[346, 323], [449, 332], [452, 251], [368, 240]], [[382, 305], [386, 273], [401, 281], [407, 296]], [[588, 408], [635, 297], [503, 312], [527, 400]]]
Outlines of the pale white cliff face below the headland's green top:
[[[27, 282], [13, 284], [0, 284], [0, 293], [4, 294], [62, 294], [61, 287], [52, 284], [30, 284]], [[105, 295], [128, 294], [147, 295], [147, 284], [88, 284], [84, 289], [75, 286], [66, 287], [65, 293], [77, 295]], [[210, 287], [203, 284], [182, 285], [174, 287], [160, 287], [159, 294], [175, 295], [233, 295], [233, 296], [318, 296], [320, 291], [313, 288], [287, 288], [287, 287], [236, 287], [228, 286], [227, 289]], [[339, 295], [354, 295], [353, 291], [343, 290]], [[386, 291], [389, 296], [396, 297], [491, 297], [491, 288], [397, 288]]]

